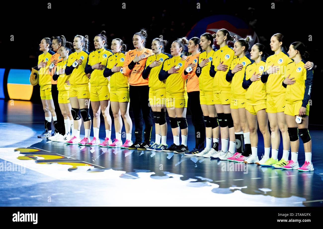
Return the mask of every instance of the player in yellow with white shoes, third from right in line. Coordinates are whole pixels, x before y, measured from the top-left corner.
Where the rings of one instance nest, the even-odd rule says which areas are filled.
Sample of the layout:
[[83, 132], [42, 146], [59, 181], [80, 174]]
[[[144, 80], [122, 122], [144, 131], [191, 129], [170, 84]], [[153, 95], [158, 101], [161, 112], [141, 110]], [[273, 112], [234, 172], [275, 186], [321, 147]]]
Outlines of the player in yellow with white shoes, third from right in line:
[[[261, 81], [265, 69], [266, 47], [262, 44], [255, 44], [250, 51], [250, 59], [255, 62], [245, 68], [245, 76], [242, 87], [247, 90], [246, 116], [250, 130], [251, 156], [248, 158], [238, 157], [234, 161], [248, 164], [257, 163], [258, 159], [258, 124], [259, 130], [264, 137], [265, 154], [270, 152], [270, 133], [268, 129], [268, 116], [266, 113], [266, 83]], [[258, 124], [257, 124], [258, 121]], [[249, 155], [248, 155], [249, 156]]]

